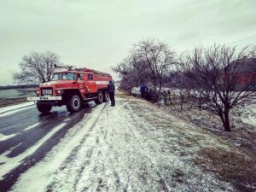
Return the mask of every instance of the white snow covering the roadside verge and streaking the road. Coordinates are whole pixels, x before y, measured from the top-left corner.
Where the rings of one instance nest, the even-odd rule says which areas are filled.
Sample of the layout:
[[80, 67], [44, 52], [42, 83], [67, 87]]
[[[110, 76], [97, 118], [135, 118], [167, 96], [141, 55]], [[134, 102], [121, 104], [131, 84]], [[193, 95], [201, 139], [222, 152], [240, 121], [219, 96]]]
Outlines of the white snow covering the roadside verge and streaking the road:
[[[3, 108], [0, 115], [30, 108], [27, 102]], [[15, 146], [0, 155], [2, 185], [9, 182], [7, 173], [29, 163], [26, 158], [73, 120], [64, 114], [59, 125], [23, 153], [9, 157]], [[22, 134], [37, 129], [38, 123], [27, 126]], [[11, 137], [17, 135], [2, 135], [0, 144]], [[119, 96], [114, 108], [109, 104], [92, 108], [41, 160], [22, 172], [9, 191], [239, 191], [218, 172], [202, 168], [208, 161], [201, 154], [209, 148], [247, 160], [246, 154], [211, 132], [148, 102]]]

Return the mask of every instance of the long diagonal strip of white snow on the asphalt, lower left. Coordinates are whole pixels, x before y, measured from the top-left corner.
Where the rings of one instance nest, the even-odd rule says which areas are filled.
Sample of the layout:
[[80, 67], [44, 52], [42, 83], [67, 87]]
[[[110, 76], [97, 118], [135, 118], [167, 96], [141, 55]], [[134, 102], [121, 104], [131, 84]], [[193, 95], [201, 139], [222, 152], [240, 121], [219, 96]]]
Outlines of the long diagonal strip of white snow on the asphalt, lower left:
[[[34, 144], [31, 148], [27, 148], [25, 152], [22, 154], [19, 154], [18, 156], [14, 158], [9, 158], [6, 156], [6, 154], [9, 153], [9, 151], [3, 155], [0, 156], [0, 163], [3, 163], [0, 165], [0, 179], [3, 178], [5, 174], [10, 172], [11, 170], [15, 169], [15, 167], [20, 166], [22, 164], [22, 160], [24, 160], [29, 155], [35, 153], [38, 148], [40, 148], [50, 137], [52, 137], [57, 131], [61, 130], [66, 125], [66, 123], [62, 123], [61, 125], [56, 126], [53, 128], [47, 135], [45, 135], [43, 138], [41, 138], [38, 143]], [[36, 190], [35, 190], [36, 191]]]

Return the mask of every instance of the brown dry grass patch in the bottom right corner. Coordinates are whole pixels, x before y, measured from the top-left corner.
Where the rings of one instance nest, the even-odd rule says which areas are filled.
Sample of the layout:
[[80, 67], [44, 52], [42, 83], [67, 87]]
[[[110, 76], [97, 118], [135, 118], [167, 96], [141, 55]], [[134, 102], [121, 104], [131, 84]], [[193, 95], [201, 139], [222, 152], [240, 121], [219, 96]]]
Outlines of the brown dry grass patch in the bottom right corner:
[[232, 183], [239, 191], [253, 192], [256, 189], [256, 166], [245, 154], [208, 147], [197, 153], [195, 164]]

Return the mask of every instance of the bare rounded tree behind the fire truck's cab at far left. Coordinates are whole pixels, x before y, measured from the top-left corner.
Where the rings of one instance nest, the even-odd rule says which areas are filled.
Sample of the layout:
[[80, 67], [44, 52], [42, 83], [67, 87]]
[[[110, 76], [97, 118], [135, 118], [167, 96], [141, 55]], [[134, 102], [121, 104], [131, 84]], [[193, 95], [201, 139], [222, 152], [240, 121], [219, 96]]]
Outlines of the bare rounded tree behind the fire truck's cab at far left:
[[14, 73], [17, 84], [40, 84], [50, 80], [54, 66], [59, 64], [59, 56], [52, 52], [24, 55], [20, 62], [20, 73]]

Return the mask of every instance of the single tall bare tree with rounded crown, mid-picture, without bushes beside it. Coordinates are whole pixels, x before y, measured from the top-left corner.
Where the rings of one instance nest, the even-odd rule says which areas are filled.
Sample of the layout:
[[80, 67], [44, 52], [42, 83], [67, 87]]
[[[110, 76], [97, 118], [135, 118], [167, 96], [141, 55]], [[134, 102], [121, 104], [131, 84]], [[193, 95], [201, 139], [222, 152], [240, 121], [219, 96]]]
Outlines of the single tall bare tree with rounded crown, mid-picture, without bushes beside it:
[[135, 44], [131, 49], [133, 55], [136, 55], [137, 61], [146, 63], [151, 71], [154, 93], [157, 86], [160, 93], [163, 84], [163, 77], [170, 71], [174, 61], [174, 51], [169, 49], [168, 44], [147, 39]]

